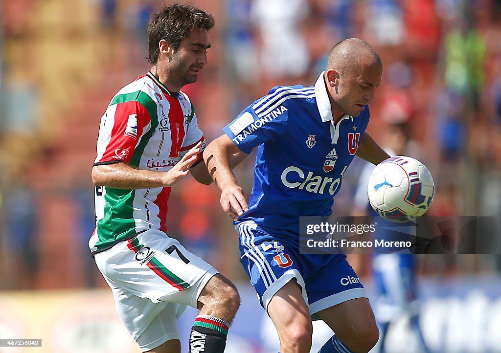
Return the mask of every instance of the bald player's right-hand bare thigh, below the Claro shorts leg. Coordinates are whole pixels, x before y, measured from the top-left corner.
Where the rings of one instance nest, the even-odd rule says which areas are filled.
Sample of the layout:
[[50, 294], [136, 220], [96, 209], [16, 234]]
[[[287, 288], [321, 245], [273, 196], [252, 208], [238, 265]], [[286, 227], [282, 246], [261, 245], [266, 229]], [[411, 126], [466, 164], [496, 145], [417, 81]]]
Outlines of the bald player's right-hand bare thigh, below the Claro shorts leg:
[[355, 298], [323, 309], [316, 315], [325, 321], [341, 341], [377, 335], [374, 312], [367, 298]]

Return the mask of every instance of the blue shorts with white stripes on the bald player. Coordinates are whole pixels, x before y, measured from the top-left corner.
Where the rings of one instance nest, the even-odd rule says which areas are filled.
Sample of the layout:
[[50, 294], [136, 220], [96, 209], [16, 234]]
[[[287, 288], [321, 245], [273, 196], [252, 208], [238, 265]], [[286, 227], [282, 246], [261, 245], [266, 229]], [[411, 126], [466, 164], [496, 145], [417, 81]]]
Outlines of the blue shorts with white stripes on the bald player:
[[346, 255], [299, 253], [299, 235], [270, 234], [252, 221], [239, 223], [240, 262], [261, 305], [292, 278], [301, 286], [310, 314], [355, 298], [367, 298]]

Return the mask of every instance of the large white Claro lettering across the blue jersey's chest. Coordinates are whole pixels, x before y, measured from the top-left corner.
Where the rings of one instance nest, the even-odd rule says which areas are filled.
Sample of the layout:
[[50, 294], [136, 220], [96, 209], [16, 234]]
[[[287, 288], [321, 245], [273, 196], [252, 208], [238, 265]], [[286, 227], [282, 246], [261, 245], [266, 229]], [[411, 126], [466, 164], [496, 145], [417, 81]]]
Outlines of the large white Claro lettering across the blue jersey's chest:
[[[298, 188], [315, 194], [329, 192], [329, 194], [334, 195], [339, 187], [339, 184], [341, 184], [341, 178], [343, 177], [347, 167], [348, 166], [344, 167], [344, 170], [340, 174], [340, 178], [334, 179], [313, 175], [313, 172], [308, 172], [305, 177], [305, 172], [303, 172], [300, 168], [290, 166], [282, 172], [282, 183], [291, 189]], [[298, 176], [302, 181], [291, 181], [294, 179], [297, 180]]]

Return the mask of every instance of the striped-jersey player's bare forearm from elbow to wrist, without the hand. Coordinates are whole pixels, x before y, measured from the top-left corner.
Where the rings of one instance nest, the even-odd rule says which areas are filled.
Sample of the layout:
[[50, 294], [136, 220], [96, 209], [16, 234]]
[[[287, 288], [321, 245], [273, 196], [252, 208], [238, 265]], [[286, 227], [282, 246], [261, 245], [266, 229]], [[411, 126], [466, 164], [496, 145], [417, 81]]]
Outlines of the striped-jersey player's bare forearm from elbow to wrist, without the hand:
[[116, 189], [148, 189], [166, 186], [166, 173], [139, 170], [120, 162], [94, 166], [92, 181]]

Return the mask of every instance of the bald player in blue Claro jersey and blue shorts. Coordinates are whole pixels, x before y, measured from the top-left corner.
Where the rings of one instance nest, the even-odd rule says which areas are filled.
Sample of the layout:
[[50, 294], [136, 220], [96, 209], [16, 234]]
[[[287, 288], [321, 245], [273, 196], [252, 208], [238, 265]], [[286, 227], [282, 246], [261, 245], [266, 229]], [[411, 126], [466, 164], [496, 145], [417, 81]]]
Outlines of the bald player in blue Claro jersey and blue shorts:
[[[369, 44], [344, 40], [315, 86], [273, 88], [204, 152], [239, 232], [240, 262], [277, 327], [282, 353], [309, 352], [312, 315], [335, 332], [321, 353], [367, 352], [378, 340], [365, 289], [346, 256], [299, 254], [299, 217], [331, 214], [355, 154], [373, 164], [389, 157], [365, 133], [382, 73]], [[255, 147], [247, 204], [231, 169]]]

